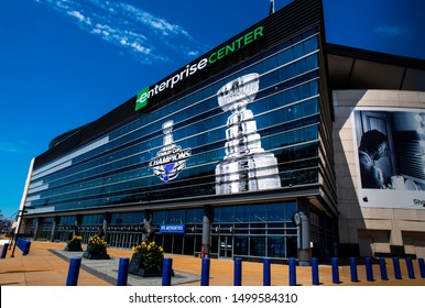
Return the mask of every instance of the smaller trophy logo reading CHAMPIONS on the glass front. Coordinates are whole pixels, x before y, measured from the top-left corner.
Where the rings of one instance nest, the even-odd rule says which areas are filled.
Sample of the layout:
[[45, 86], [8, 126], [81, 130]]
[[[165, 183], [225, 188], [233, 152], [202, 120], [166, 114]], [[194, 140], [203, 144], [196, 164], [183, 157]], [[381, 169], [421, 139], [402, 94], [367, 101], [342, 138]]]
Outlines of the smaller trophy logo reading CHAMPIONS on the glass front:
[[178, 176], [186, 167], [186, 161], [190, 157], [190, 148], [182, 150], [173, 140], [174, 121], [166, 121], [162, 124], [164, 132], [163, 147], [156, 153], [149, 165], [153, 168], [153, 174], [167, 183]]

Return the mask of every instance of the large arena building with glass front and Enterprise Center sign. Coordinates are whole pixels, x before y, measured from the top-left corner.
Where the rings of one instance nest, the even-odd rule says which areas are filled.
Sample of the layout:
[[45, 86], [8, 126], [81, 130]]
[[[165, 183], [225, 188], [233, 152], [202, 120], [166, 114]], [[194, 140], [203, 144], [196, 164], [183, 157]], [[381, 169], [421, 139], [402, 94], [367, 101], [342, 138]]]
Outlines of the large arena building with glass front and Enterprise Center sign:
[[[322, 1], [294, 1], [53, 140], [20, 232], [87, 242], [101, 226], [130, 249], [149, 222], [174, 254], [424, 256], [424, 80], [423, 61], [327, 44]], [[358, 148], [382, 128], [371, 188]]]

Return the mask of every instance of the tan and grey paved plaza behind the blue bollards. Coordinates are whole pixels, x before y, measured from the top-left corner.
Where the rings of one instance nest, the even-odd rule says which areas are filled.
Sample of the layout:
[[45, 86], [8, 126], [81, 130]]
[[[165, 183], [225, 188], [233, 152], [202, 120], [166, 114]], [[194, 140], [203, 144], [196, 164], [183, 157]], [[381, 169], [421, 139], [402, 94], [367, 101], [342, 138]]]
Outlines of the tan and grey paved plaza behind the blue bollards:
[[[8, 250], [6, 258], [0, 260], [1, 286], [65, 286], [69, 267], [69, 258], [81, 256], [83, 252], [65, 251], [65, 243], [39, 242], [31, 243], [28, 255], [22, 255], [17, 248], [14, 257], [10, 257]], [[0, 251], [2, 244], [0, 243]], [[108, 249], [111, 256], [108, 261], [81, 258], [78, 286], [113, 286], [118, 276], [120, 257], [131, 258], [132, 251]], [[172, 285], [199, 286], [201, 260], [186, 255], [166, 255], [173, 258], [175, 276]], [[333, 284], [331, 266], [319, 265], [319, 282], [322, 286], [425, 286], [425, 278], [421, 278], [417, 260], [414, 260], [415, 278], [408, 278], [404, 260], [400, 260], [402, 279], [394, 278], [392, 261], [386, 261], [389, 280], [381, 280], [380, 268], [373, 264], [374, 282], [367, 282], [364, 265], [358, 265], [358, 283], [351, 283], [349, 266], [339, 266], [339, 284]], [[288, 266], [272, 264], [272, 285], [288, 285]], [[133, 286], [160, 286], [161, 278], [143, 278], [129, 274], [128, 284]], [[312, 270], [309, 266], [296, 267], [296, 283], [299, 286], [312, 286]], [[254, 262], [243, 262], [242, 285], [262, 286], [263, 265]], [[210, 286], [233, 285], [233, 261], [210, 261]]]

